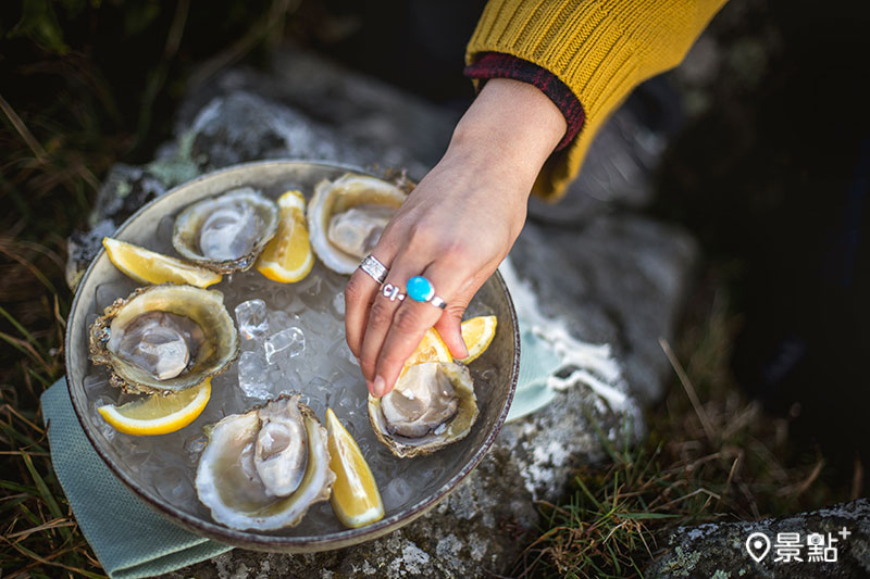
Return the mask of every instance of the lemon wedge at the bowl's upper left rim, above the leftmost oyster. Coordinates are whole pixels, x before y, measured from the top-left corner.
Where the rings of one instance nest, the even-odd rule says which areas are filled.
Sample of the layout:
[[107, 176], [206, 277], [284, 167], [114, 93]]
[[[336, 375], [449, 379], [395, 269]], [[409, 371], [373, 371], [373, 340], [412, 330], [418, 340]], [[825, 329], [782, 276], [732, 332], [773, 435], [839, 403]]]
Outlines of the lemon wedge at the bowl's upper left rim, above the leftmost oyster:
[[208, 288], [221, 281], [221, 274], [126, 241], [104, 237], [102, 247], [115, 267], [140, 284], [172, 281]]

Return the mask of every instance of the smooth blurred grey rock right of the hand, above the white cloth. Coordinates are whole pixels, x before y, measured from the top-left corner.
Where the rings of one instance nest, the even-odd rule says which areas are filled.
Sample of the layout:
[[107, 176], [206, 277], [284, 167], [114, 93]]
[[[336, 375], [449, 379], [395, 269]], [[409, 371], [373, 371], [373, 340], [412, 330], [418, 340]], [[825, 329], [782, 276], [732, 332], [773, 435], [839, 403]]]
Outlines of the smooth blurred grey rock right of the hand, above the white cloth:
[[529, 223], [511, 257], [545, 314], [571, 320], [581, 340], [610, 343], [643, 403], [661, 397], [658, 339], [672, 338], [698, 259], [687, 234], [625, 214], [581, 229]]

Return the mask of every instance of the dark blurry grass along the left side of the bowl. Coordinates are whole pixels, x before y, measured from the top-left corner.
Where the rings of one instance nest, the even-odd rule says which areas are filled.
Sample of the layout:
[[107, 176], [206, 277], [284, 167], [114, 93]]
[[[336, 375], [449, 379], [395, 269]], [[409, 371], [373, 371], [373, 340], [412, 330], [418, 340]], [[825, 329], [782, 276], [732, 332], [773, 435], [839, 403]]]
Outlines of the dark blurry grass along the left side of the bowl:
[[[0, 577], [103, 577], [51, 466], [66, 239], [116, 162], [144, 162], [199, 80], [277, 40], [291, 0], [0, 8]], [[84, 33], [84, 34], [83, 34]]]

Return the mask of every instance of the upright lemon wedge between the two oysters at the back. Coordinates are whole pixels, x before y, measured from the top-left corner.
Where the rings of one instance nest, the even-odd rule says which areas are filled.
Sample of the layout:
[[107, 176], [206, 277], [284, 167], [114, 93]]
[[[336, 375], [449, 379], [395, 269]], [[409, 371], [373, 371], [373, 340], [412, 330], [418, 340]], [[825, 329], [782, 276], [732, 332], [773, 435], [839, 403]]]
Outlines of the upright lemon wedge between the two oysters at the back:
[[314, 266], [314, 254], [308, 241], [306, 198], [299, 191], [287, 191], [278, 198], [281, 223], [260, 259], [257, 269], [272, 281], [299, 281]]

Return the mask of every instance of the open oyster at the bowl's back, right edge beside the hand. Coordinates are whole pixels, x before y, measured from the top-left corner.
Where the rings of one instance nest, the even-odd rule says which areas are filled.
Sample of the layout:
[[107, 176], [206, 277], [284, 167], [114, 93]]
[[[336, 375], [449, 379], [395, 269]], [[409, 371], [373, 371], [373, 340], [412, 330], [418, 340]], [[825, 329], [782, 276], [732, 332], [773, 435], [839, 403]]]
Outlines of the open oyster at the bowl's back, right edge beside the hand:
[[308, 204], [314, 253], [330, 269], [352, 274], [406, 197], [395, 185], [365, 175], [321, 181]]

